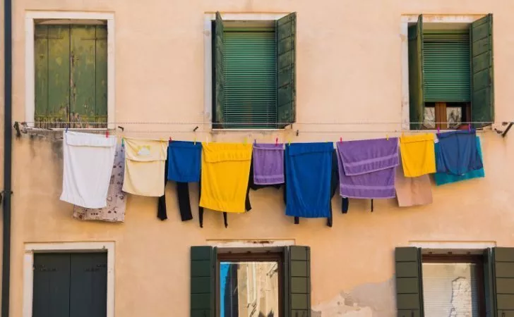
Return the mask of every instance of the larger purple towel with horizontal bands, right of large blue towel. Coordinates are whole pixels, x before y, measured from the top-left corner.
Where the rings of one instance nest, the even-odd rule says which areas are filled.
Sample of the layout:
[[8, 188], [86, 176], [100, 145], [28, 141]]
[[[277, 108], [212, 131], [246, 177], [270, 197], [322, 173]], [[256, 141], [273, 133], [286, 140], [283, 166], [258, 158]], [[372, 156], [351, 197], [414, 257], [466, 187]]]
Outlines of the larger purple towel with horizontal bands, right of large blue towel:
[[337, 163], [342, 197], [395, 197], [398, 138], [337, 142]]

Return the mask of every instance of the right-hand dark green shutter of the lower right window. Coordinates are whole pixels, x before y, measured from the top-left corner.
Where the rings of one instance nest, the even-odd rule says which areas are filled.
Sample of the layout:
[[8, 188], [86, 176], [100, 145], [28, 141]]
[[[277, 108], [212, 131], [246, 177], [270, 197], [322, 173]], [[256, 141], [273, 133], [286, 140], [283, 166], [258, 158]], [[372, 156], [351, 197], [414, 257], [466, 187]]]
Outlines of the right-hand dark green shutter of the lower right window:
[[[492, 309], [497, 314], [488, 316], [514, 316], [514, 248], [496, 247], [492, 249], [490, 275], [494, 276], [494, 296]], [[487, 272], [486, 272], [487, 274]]]

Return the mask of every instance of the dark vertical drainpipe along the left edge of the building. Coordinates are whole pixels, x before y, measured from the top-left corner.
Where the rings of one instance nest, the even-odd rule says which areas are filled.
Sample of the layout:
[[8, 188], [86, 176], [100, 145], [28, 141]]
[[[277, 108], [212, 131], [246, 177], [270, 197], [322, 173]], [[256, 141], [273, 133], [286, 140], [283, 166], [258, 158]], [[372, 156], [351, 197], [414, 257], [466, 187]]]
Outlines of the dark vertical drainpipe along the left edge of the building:
[[12, 85], [12, 0], [4, 0], [4, 240], [2, 245], [1, 317], [9, 317], [11, 287], [11, 178], [13, 147], [13, 85]]

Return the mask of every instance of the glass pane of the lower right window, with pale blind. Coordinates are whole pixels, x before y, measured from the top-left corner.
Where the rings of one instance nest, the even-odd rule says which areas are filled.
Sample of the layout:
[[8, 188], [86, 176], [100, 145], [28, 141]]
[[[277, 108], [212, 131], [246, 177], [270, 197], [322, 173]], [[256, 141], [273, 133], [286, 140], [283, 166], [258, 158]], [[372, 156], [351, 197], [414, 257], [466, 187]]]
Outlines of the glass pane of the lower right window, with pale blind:
[[475, 263], [423, 263], [425, 317], [479, 317]]

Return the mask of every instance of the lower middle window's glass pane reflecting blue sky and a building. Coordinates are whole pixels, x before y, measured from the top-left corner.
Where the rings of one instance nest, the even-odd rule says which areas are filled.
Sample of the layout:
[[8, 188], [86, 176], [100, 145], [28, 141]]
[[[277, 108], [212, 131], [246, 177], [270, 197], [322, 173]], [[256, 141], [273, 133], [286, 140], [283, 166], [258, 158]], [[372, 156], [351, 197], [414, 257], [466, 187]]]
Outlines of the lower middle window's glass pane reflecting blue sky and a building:
[[221, 262], [220, 317], [278, 317], [278, 263]]

